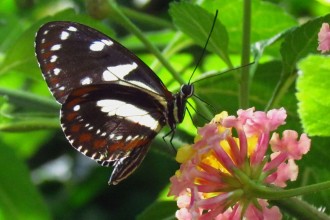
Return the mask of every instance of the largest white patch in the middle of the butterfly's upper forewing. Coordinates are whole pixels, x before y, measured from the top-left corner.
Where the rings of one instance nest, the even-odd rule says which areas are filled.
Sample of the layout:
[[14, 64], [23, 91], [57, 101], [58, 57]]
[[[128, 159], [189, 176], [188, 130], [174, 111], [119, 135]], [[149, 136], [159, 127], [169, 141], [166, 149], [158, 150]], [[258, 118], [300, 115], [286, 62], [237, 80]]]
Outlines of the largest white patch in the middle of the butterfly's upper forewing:
[[107, 70], [103, 72], [103, 80], [115, 81], [118, 79], [124, 79], [131, 71], [135, 70], [138, 65], [133, 62], [132, 64], [123, 64], [118, 66], [109, 66]]

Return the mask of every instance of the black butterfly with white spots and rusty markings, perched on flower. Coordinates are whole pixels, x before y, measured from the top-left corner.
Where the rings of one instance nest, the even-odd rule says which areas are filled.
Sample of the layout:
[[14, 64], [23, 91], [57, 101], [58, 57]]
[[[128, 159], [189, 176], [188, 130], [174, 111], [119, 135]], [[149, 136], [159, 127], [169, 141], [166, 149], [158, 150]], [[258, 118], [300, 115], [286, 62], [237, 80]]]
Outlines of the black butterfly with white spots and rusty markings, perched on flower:
[[192, 84], [172, 94], [136, 55], [83, 24], [49, 22], [36, 34], [36, 57], [61, 104], [70, 144], [102, 166], [113, 166], [118, 184], [143, 161], [163, 126], [182, 122]]

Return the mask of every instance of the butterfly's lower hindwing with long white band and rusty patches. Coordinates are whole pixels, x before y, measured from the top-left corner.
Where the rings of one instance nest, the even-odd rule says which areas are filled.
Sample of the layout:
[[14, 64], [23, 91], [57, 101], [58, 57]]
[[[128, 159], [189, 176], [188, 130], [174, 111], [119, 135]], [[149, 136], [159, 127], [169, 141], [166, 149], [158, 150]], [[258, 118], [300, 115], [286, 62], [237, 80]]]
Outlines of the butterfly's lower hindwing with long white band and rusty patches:
[[72, 90], [61, 109], [71, 145], [103, 166], [114, 166], [116, 184], [142, 162], [151, 140], [165, 125], [161, 96], [118, 83]]

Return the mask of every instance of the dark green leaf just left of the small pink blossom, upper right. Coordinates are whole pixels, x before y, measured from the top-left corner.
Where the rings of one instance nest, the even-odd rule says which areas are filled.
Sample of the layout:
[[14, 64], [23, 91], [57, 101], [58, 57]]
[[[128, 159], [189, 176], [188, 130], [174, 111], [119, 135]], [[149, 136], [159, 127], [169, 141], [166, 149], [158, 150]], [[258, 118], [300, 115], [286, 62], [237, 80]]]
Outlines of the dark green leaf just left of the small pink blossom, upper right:
[[317, 48], [317, 34], [323, 22], [330, 22], [330, 14], [320, 17], [293, 29], [281, 45], [283, 59], [283, 74], [292, 74], [297, 62], [309, 53], [319, 53]]

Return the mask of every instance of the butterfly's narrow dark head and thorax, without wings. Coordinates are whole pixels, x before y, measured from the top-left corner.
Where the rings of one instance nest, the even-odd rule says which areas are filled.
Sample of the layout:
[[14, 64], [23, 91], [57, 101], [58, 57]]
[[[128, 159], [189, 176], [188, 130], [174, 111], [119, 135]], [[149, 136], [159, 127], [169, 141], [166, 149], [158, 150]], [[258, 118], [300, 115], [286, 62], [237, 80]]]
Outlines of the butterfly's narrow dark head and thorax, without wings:
[[176, 124], [181, 123], [186, 112], [187, 99], [194, 94], [194, 86], [192, 84], [183, 84], [180, 91], [174, 95], [174, 119]]

